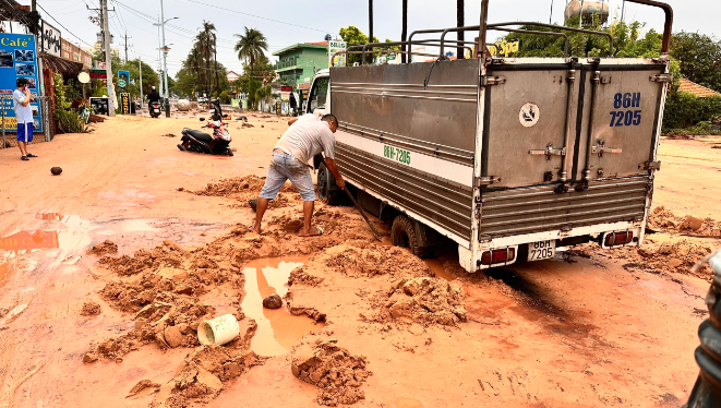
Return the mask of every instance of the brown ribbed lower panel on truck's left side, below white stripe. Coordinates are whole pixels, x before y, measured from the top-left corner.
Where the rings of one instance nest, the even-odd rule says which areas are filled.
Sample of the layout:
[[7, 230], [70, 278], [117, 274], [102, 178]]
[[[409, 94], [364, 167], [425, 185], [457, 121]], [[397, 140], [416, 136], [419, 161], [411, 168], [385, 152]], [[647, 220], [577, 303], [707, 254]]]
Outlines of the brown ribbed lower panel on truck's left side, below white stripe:
[[353, 184], [470, 240], [470, 189], [343, 143], [336, 144], [336, 160], [340, 171]]

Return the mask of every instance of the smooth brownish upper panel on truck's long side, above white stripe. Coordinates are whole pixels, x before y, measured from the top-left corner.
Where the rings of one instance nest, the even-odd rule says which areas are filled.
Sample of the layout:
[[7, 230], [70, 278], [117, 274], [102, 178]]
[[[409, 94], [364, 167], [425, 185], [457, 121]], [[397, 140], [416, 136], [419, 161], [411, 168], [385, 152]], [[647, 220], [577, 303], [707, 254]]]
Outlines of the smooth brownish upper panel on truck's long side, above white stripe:
[[479, 63], [332, 68], [332, 111], [349, 133], [471, 165]]

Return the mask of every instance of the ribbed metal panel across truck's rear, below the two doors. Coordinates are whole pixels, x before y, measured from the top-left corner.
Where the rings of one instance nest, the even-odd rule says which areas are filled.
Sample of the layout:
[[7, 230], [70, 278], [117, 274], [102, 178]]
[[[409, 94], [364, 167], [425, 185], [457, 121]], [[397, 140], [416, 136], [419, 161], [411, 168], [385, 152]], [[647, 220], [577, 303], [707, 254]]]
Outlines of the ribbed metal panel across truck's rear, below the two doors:
[[644, 218], [649, 177], [592, 181], [557, 194], [555, 184], [483, 193], [481, 240]]

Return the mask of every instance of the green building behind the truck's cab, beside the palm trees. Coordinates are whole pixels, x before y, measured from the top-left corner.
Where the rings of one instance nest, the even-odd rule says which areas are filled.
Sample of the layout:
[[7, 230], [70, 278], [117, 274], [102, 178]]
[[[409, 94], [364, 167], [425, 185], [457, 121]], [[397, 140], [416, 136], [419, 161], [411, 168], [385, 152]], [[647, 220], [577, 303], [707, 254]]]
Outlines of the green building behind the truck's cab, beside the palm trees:
[[281, 82], [299, 88], [310, 84], [316, 71], [328, 67], [328, 43], [295, 44], [273, 53], [278, 57], [275, 72]]

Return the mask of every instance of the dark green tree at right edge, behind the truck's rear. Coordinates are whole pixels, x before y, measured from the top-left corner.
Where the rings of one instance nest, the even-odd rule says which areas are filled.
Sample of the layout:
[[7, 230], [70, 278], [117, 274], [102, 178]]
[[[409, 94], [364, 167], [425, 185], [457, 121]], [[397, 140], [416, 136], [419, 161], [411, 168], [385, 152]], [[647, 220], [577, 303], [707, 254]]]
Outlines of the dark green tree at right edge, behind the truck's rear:
[[671, 57], [689, 81], [721, 92], [721, 41], [699, 33], [676, 33], [671, 37]]

